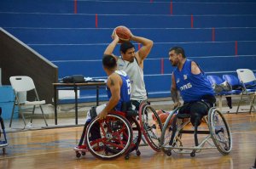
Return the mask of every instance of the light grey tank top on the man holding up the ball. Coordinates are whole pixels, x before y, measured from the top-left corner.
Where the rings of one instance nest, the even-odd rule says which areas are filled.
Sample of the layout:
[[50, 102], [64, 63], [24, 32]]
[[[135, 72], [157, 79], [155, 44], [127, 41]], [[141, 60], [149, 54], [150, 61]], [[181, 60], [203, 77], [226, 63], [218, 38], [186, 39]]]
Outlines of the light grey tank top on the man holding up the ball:
[[143, 69], [138, 65], [137, 59], [133, 62], [118, 58], [117, 66], [119, 70], [124, 70], [131, 81], [131, 100], [146, 100], [147, 92], [144, 82]]

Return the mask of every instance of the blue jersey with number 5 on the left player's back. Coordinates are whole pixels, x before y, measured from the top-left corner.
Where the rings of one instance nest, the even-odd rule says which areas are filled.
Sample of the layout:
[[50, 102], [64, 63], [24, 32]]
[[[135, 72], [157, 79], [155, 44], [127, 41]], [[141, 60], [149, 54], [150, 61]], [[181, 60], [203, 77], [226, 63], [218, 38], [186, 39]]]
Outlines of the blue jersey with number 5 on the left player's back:
[[[121, 77], [123, 84], [120, 88], [120, 99], [119, 103], [115, 106], [115, 110], [121, 110], [122, 103], [130, 102], [130, 96], [131, 96], [131, 82], [129, 79], [129, 76], [125, 73], [123, 70], [116, 70], [115, 73], [119, 74]], [[108, 93], [108, 99], [111, 98], [111, 92], [110, 89], [107, 87], [107, 93]]]

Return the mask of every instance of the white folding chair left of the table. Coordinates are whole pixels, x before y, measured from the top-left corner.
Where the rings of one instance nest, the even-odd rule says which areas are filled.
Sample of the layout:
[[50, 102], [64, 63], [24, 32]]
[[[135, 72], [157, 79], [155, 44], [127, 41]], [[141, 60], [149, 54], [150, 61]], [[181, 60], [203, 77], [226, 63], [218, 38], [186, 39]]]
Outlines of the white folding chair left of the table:
[[[18, 111], [20, 112], [22, 116], [22, 120], [24, 121], [24, 125], [25, 125], [24, 128], [26, 127], [26, 119], [23, 112], [32, 111], [32, 117], [31, 117], [31, 124], [32, 124], [33, 115], [34, 115], [36, 106], [40, 107], [40, 110], [42, 111], [42, 115], [44, 116], [45, 125], [48, 126], [47, 121], [45, 119], [44, 110], [42, 109], [42, 105], [45, 104], [45, 100], [39, 100], [38, 92], [36, 90], [36, 87], [34, 85], [32, 78], [29, 76], [11, 76], [9, 78], [9, 81], [11, 83], [11, 86], [15, 90], [15, 103], [13, 106], [9, 127], [11, 127], [12, 125], [13, 115], [15, 112], [15, 105], [18, 105], [19, 107]], [[26, 100], [26, 93], [28, 91], [34, 92], [34, 95], [35, 95], [34, 101]]]

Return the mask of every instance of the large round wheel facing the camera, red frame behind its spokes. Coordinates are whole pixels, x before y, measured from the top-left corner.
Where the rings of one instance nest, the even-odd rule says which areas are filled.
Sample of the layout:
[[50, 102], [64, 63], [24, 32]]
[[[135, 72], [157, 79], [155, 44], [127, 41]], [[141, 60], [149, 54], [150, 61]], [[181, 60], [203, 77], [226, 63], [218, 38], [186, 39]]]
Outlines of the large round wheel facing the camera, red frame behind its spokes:
[[131, 141], [130, 122], [121, 115], [108, 114], [104, 120], [95, 118], [85, 134], [87, 149], [101, 160], [113, 160], [124, 155], [130, 149]]

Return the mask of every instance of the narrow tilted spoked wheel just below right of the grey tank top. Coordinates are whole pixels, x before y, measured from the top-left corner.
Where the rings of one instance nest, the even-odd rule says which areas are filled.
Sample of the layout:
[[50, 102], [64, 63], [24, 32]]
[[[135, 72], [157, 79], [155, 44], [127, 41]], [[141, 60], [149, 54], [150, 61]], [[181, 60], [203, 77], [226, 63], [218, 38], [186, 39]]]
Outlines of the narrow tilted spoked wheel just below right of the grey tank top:
[[160, 151], [162, 123], [159, 116], [149, 104], [143, 103], [140, 105], [139, 119], [148, 145], [155, 151]]

